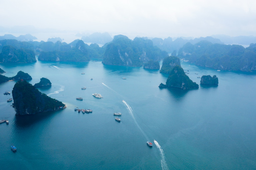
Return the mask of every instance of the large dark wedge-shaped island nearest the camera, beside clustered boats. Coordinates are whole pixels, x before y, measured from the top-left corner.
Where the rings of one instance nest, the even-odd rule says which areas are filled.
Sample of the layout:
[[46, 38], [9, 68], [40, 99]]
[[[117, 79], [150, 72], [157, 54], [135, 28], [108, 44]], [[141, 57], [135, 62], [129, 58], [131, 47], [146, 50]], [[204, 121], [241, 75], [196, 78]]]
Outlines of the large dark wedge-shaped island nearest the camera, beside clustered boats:
[[17, 115], [55, 111], [65, 106], [62, 102], [41, 93], [26, 81], [18, 81], [14, 85], [12, 96]]

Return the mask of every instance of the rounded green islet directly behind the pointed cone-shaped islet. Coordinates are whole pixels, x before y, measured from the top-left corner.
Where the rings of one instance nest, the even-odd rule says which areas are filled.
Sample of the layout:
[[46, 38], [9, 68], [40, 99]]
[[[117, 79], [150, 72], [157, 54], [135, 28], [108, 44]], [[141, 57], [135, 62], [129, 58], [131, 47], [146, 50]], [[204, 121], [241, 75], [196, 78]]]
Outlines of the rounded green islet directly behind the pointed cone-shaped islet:
[[176, 65], [180, 66], [180, 59], [178, 57], [174, 57], [174, 56], [165, 57], [163, 60], [160, 73], [170, 74], [170, 72]]

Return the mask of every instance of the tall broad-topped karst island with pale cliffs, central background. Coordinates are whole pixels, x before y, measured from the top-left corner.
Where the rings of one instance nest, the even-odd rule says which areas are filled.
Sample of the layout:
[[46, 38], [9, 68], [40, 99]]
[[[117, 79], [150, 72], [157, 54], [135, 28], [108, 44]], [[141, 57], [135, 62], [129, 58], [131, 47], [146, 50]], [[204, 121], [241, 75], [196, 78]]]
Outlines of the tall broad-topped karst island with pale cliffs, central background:
[[102, 63], [108, 65], [142, 66], [150, 59], [159, 61], [168, 56], [167, 52], [153, 46], [151, 40], [116, 35], [107, 47]]

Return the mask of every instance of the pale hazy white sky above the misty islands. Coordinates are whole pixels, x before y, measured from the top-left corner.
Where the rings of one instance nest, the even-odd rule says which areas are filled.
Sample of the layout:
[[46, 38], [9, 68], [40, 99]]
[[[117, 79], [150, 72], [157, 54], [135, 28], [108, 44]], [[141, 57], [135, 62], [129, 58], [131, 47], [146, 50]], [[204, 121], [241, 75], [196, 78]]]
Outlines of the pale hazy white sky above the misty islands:
[[128, 37], [256, 36], [255, 0], [1, 0], [0, 26]]

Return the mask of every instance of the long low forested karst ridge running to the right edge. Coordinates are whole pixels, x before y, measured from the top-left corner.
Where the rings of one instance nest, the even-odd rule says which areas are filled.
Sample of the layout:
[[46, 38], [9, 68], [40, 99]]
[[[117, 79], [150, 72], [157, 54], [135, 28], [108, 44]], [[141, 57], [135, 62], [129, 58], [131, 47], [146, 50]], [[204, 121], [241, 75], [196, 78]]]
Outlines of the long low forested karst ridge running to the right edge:
[[196, 65], [219, 70], [256, 70], [255, 44], [244, 48], [241, 45], [212, 44], [201, 41], [192, 45], [185, 44], [178, 57], [185, 58]]

